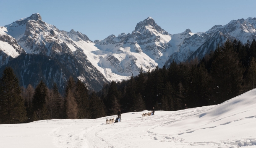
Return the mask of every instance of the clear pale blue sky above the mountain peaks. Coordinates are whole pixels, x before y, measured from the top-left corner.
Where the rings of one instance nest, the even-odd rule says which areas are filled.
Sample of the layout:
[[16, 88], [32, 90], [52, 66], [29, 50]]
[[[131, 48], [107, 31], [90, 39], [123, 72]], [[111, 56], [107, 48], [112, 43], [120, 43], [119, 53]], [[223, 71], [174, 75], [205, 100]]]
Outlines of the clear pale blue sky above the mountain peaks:
[[147, 17], [168, 33], [204, 32], [230, 20], [256, 17], [256, 0], [0, 0], [0, 26], [40, 13], [60, 30], [91, 40], [131, 33]]

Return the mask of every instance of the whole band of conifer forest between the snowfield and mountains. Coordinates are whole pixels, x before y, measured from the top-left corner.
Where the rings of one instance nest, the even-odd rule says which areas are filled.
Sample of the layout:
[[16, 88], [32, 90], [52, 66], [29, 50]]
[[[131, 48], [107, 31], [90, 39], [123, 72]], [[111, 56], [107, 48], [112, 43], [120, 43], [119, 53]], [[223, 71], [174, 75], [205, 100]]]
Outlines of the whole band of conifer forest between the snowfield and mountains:
[[180, 110], [224, 102], [256, 87], [256, 41], [243, 45], [227, 40], [204, 58], [140, 70], [122, 82], [104, 84], [99, 92], [70, 77], [64, 94], [58, 85], [20, 87], [6, 67], [0, 78], [0, 123], [28, 123], [45, 119], [100, 118], [152, 110]]

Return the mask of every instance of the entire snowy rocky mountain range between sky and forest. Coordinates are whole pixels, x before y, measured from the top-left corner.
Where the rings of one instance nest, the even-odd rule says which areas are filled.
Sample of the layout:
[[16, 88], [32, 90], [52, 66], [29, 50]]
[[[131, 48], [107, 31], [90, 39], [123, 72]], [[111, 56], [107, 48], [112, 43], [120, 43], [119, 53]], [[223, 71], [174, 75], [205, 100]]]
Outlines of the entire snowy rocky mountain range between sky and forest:
[[24, 87], [44, 80], [50, 88], [56, 82], [63, 92], [72, 75], [90, 89], [100, 90], [105, 82], [137, 75], [141, 67], [146, 71], [168, 66], [172, 60], [180, 63], [202, 58], [227, 38], [246, 43], [255, 37], [256, 18], [232, 20], [203, 33], [187, 29], [172, 35], [149, 17], [132, 33], [92, 42], [78, 31], [58, 30], [35, 13], [0, 27], [0, 70], [6, 65], [16, 67]]

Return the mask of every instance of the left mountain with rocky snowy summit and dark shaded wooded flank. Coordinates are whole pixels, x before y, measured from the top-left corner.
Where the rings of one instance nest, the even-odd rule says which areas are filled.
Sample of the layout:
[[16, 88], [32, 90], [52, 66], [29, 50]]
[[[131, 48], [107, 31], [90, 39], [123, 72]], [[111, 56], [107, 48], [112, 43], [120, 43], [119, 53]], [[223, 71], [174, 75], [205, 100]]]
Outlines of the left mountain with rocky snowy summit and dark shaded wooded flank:
[[[28, 54], [26, 57], [29, 58], [20, 55], [15, 60], [2, 64], [2, 67], [10, 65], [21, 75], [20, 81], [24, 87], [29, 83], [36, 86], [42, 79], [49, 88], [53, 82], [58, 83], [60, 91], [63, 92], [70, 75], [75, 79], [79, 78], [93, 90], [100, 90], [107, 82], [102, 72], [87, 59], [85, 49], [81, 48], [94, 44], [82, 33], [74, 30], [60, 31], [54, 25], [42, 21], [38, 13], [5, 25], [2, 30], [14, 43], [18, 43], [17, 50], [21, 50], [12, 58], [21, 53]], [[31, 57], [34, 60], [31, 60]], [[49, 60], [52, 58], [54, 62]], [[4, 65], [6, 63], [8, 65]]]

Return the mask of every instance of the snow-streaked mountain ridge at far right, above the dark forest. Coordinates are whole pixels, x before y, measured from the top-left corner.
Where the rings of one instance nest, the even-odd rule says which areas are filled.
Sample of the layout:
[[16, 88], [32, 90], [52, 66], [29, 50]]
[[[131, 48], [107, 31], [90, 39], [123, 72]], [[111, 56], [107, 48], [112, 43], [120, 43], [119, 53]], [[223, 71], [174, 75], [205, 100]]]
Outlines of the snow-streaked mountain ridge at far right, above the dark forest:
[[[206, 53], [209, 53], [211, 50], [214, 51], [218, 44], [222, 45], [227, 38], [230, 40], [240, 40], [243, 44], [247, 43], [247, 40], [252, 41], [253, 38], [256, 38], [256, 18], [231, 20], [227, 25], [215, 25], [208, 31], [198, 34], [206, 37], [204, 40], [201, 40], [201, 45], [199, 44], [200, 47], [198, 49], [194, 50], [189, 57], [180, 61], [172, 58], [173, 55], [171, 55], [166, 64], [170, 64], [172, 59], [183, 62], [185, 60], [192, 60], [195, 57], [203, 58]], [[180, 56], [180, 59], [183, 57]]]

